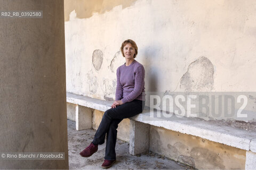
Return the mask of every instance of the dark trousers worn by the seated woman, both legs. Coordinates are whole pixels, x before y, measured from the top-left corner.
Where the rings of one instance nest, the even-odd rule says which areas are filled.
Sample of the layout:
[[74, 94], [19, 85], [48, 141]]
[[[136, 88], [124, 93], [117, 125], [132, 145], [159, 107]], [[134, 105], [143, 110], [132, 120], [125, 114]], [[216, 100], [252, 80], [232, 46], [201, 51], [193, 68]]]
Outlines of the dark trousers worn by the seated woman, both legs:
[[124, 119], [135, 116], [143, 111], [145, 101], [134, 99], [116, 108], [108, 109], [102, 117], [99, 128], [95, 133], [92, 143], [101, 145], [105, 142], [107, 134], [105, 159], [116, 160], [116, 136], [118, 124]]

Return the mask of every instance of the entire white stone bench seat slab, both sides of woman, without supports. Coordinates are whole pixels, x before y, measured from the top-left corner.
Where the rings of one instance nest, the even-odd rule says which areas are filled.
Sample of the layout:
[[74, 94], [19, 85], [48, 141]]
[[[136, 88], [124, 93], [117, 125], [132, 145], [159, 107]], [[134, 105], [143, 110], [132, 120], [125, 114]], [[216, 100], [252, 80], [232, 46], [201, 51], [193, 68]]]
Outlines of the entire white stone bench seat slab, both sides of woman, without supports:
[[[73, 103], [99, 111], [105, 112], [111, 108], [113, 101], [94, 99], [86, 96], [67, 93], [67, 102]], [[150, 112], [144, 109], [142, 114], [132, 117], [134, 121], [163, 127], [172, 131], [191, 134], [210, 141], [223, 143], [225, 145], [236, 147], [243, 150], [256, 151], [256, 132], [249, 132], [242, 129], [232, 128], [230, 126], [217, 125], [197, 118], [172, 116], [169, 120], [162, 121], [160, 118], [149, 120]]]

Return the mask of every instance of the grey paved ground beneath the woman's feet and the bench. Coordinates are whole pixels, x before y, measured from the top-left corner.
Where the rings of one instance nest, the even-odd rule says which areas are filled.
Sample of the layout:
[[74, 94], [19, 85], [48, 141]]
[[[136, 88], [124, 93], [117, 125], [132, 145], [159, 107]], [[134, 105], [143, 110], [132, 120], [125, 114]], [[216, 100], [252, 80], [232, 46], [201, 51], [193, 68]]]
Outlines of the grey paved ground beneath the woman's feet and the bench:
[[[105, 144], [99, 145], [98, 151], [89, 158], [83, 158], [79, 152], [90, 145], [95, 130], [75, 130], [75, 122], [68, 120], [68, 155], [69, 169], [103, 169], [101, 164], [105, 155]], [[109, 169], [193, 169], [174, 160], [153, 152], [132, 156], [129, 154], [129, 143], [116, 142], [117, 162]]]

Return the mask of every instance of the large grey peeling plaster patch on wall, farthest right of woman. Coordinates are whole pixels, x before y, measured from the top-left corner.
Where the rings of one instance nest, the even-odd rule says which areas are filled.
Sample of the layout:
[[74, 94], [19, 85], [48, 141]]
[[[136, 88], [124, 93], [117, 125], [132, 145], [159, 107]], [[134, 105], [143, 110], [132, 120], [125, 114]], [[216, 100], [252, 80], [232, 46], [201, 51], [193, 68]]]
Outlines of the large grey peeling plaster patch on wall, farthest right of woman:
[[214, 68], [212, 62], [202, 56], [189, 64], [188, 71], [183, 74], [180, 89], [184, 91], [211, 91], [213, 89]]

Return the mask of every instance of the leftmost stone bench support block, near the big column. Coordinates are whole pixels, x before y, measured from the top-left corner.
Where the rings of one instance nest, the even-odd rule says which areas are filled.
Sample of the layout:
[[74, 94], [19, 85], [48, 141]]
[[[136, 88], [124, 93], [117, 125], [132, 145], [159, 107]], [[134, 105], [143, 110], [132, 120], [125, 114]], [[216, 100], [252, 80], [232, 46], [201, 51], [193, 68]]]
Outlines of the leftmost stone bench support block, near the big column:
[[76, 130], [85, 130], [92, 128], [93, 109], [76, 105]]

